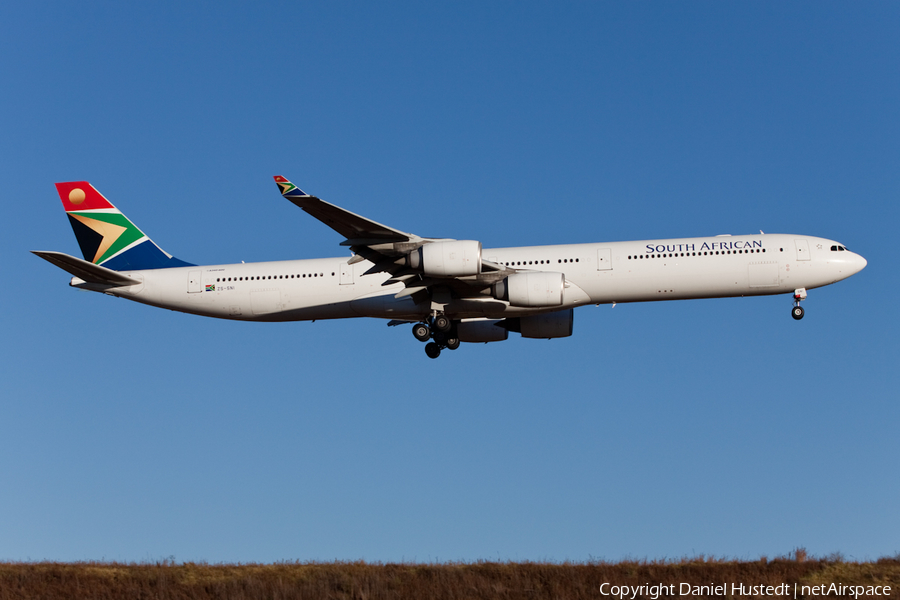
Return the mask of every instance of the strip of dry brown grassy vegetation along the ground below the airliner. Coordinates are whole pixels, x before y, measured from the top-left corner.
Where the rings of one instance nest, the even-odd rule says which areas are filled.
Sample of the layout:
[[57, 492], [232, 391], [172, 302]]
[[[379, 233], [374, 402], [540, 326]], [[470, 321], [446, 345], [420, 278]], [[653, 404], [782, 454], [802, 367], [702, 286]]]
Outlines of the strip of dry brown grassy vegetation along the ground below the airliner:
[[[677, 593], [682, 583], [787, 583], [793, 588], [795, 582], [890, 585], [890, 596], [879, 597], [900, 598], [900, 557], [856, 563], [845, 562], [840, 556], [813, 559], [798, 549], [791, 557], [747, 562], [699, 557], [619, 563], [0, 563], [0, 600], [581, 599], [603, 598], [600, 588], [604, 583], [675, 584]], [[609, 587], [605, 589], [609, 591]], [[692, 596], [698, 597], [713, 596]], [[719, 597], [732, 596], [728, 593]], [[637, 598], [651, 595], [638, 593]]]

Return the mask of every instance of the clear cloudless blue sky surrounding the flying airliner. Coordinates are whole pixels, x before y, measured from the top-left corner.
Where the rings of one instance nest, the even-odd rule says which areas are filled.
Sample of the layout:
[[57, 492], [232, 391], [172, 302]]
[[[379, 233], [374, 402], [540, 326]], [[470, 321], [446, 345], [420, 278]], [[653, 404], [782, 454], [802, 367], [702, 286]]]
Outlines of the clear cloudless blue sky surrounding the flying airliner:
[[[0, 559], [900, 551], [896, 3], [6, 3]], [[304, 190], [485, 247], [789, 232], [868, 267], [582, 308], [429, 360], [381, 321], [67, 287], [53, 183], [195, 263], [340, 256]]]

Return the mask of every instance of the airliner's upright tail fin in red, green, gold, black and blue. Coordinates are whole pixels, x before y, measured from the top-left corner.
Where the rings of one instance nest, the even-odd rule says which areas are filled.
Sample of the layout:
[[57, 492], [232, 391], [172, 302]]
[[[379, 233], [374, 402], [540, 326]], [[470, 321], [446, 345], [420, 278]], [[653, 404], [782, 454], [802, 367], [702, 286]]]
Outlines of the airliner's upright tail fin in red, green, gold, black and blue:
[[154, 244], [87, 181], [57, 183], [56, 190], [87, 262], [114, 271], [192, 266]]

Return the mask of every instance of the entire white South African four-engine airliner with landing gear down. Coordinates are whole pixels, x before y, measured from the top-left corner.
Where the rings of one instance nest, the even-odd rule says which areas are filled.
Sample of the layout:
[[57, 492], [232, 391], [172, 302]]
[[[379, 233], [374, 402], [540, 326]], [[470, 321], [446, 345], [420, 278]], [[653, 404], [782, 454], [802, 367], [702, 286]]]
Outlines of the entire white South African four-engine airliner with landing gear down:
[[423, 238], [306, 194], [282, 195], [346, 240], [344, 258], [196, 266], [153, 243], [86, 181], [58, 183], [84, 260], [34, 252], [69, 285], [151, 306], [244, 321], [374, 317], [412, 324], [437, 358], [460, 342], [572, 335], [587, 304], [792, 293], [850, 277], [866, 260], [841, 243], [763, 234], [520, 248]]

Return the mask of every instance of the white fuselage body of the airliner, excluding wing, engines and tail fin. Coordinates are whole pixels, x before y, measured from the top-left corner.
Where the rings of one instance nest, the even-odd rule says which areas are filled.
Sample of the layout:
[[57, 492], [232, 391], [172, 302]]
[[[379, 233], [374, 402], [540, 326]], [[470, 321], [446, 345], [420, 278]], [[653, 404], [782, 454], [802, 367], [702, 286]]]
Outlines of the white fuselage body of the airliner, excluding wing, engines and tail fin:
[[[517, 270], [565, 274], [564, 303], [516, 308], [485, 295], [454, 299], [455, 319], [526, 316], [586, 304], [759, 296], [812, 289], [845, 279], [866, 261], [837, 242], [817, 237], [759, 234], [673, 240], [484, 249], [485, 260]], [[419, 320], [431, 304], [396, 299], [403, 284], [382, 285], [385, 273], [347, 258], [288, 260], [124, 271], [140, 285], [104, 289], [152, 306], [223, 319], [304, 321], [376, 317]], [[198, 279], [199, 277], [199, 279]], [[72, 285], [95, 289], [79, 279]], [[191, 290], [191, 291], [189, 291]]]

